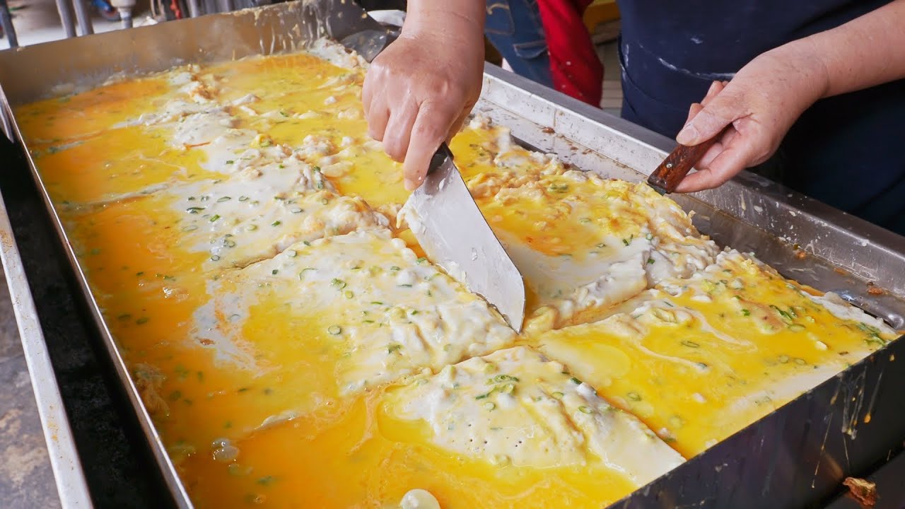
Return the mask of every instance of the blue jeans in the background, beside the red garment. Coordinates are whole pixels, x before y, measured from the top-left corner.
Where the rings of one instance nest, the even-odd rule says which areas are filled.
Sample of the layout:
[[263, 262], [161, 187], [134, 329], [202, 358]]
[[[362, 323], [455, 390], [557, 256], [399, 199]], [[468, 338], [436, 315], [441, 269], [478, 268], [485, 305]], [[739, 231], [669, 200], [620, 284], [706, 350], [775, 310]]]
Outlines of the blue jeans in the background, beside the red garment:
[[538, 0], [487, 0], [484, 34], [512, 71], [553, 87]]

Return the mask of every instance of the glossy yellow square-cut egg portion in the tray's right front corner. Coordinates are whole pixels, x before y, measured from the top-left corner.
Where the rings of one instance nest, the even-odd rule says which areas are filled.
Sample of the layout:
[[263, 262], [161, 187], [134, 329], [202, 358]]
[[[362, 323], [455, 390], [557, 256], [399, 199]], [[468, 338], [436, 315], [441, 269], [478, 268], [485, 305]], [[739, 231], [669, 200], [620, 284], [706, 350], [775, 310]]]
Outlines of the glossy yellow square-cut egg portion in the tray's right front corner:
[[536, 341], [690, 457], [897, 337], [838, 297], [811, 292], [727, 251], [602, 322]]

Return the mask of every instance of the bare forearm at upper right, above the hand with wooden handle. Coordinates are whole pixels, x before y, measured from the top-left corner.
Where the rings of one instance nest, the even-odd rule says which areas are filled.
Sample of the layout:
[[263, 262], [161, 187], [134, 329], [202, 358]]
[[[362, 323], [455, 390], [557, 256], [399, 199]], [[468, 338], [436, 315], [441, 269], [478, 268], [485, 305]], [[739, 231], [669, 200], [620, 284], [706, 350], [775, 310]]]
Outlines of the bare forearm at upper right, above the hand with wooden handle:
[[806, 47], [823, 64], [824, 97], [905, 78], [905, 0], [790, 44]]

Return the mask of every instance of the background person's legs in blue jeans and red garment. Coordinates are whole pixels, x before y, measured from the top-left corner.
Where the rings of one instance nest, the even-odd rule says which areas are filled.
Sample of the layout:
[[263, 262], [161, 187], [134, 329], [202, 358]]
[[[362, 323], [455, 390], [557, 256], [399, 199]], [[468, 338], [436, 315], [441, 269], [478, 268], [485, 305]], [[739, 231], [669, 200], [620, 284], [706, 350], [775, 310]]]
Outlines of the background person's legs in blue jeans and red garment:
[[513, 72], [600, 106], [604, 66], [582, 19], [592, 0], [486, 0], [484, 34]]

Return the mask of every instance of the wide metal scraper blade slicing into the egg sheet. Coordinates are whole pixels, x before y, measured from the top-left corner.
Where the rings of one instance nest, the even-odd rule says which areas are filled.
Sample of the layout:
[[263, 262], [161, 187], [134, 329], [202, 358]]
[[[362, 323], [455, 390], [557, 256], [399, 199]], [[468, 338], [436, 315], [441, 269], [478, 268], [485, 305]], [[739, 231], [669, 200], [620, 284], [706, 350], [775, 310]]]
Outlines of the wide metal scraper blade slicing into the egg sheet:
[[408, 198], [418, 243], [435, 264], [481, 295], [521, 331], [525, 283], [500, 240], [474, 203], [452, 153], [444, 143], [431, 160], [424, 183]]

